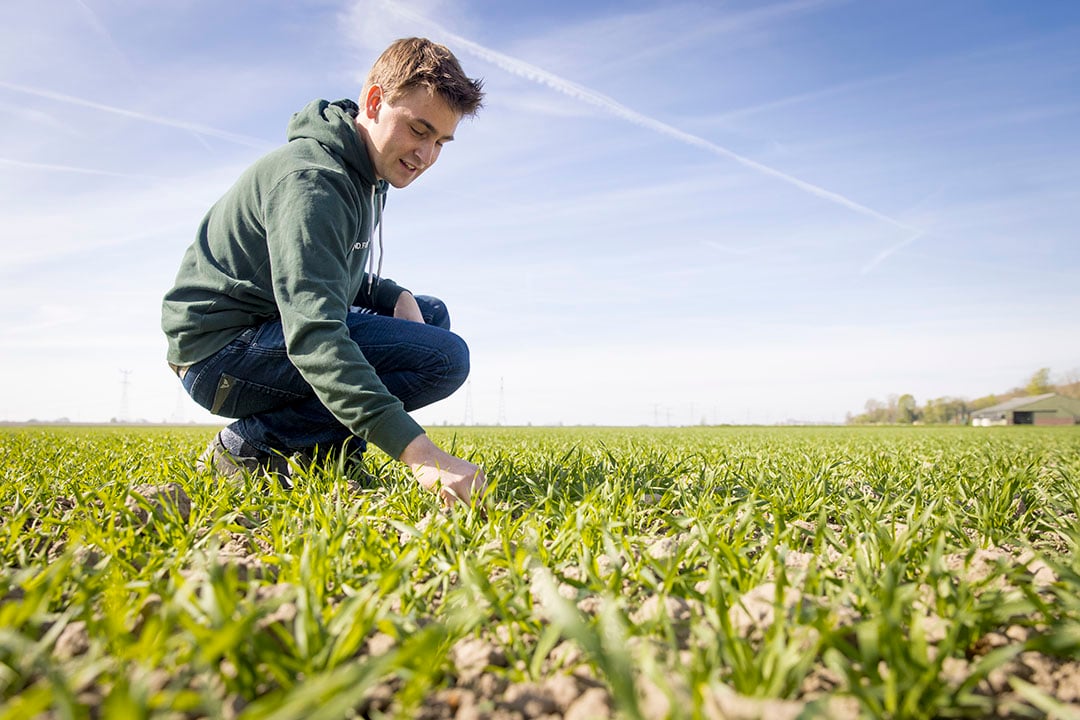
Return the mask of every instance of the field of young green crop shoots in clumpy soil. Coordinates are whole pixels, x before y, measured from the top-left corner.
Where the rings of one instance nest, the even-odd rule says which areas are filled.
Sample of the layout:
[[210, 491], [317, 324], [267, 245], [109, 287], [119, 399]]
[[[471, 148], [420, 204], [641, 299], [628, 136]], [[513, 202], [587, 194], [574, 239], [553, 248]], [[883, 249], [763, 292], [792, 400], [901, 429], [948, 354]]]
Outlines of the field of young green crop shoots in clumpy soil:
[[1080, 429], [0, 430], [0, 719], [1080, 718]]

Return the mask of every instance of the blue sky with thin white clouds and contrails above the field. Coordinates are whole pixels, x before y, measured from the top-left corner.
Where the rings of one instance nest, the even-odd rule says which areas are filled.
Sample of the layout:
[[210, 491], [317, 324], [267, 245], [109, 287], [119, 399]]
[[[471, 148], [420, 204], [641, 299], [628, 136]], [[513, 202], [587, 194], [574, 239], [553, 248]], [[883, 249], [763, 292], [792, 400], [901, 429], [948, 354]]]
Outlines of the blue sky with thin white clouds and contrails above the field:
[[485, 109], [384, 273], [473, 375], [424, 423], [842, 421], [1080, 368], [1080, 4], [10, 0], [0, 420], [213, 421], [164, 365], [206, 208], [393, 39]]

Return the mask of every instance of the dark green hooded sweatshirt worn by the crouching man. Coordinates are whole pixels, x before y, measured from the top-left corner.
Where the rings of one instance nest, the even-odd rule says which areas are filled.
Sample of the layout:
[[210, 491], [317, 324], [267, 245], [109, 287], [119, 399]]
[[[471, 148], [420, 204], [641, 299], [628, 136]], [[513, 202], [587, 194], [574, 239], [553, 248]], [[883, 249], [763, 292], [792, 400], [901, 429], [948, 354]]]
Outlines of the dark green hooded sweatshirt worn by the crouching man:
[[[351, 107], [350, 107], [351, 106]], [[206, 214], [162, 303], [168, 362], [210, 357], [281, 320], [293, 365], [353, 434], [393, 458], [423, 430], [349, 338], [351, 304], [392, 311], [403, 288], [368, 282], [377, 180], [348, 100], [293, 116], [288, 142], [258, 160]]]

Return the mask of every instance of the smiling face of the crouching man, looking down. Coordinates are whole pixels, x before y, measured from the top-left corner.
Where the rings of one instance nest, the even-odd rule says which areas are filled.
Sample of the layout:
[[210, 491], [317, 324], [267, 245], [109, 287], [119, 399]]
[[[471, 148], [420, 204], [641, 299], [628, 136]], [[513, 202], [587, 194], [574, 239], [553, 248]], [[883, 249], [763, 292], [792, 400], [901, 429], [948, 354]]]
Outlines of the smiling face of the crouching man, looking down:
[[373, 85], [361, 99], [364, 106], [356, 124], [366, 136], [375, 174], [395, 188], [406, 187], [435, 164], [461, 120], [424, 87], [414, 87], [391, 105], [382, 89]]

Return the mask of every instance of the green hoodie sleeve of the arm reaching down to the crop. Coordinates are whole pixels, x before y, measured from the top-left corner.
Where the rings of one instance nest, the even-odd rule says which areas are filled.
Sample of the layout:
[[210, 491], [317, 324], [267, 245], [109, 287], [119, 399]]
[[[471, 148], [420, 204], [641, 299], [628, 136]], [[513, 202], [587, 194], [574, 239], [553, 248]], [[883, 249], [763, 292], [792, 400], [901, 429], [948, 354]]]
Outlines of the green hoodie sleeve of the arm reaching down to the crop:
[[319, 399], [353, 434], [399, 458], [423, 429], [349, 337], [348, 250], [363, 218], [346, 182], [297, 171], [264, 196], [274, 300], [288, 357]]

